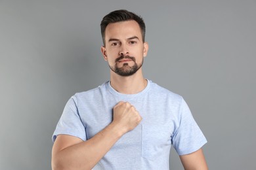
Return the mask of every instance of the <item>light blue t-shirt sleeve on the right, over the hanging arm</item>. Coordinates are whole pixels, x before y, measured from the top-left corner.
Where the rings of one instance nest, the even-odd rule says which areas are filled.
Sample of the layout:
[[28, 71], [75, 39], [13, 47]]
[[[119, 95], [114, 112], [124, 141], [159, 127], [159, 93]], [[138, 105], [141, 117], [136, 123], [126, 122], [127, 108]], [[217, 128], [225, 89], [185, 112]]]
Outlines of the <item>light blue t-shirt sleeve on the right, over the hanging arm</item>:
[[179, 115], [177, 115], [177, 124], [179, 125], [171, 139], [173, 147], [179, 155], [190, 154], [200, 149], [207, 143], [200, 127], [196, 124], [188, 105], [182, 99]]

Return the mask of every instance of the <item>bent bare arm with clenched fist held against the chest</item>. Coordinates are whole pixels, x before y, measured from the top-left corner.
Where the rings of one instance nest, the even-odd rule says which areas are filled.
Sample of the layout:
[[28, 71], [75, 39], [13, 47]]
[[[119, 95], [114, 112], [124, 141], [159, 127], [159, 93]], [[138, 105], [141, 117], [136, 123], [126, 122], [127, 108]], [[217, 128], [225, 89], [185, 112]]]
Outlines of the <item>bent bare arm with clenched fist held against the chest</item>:
[[92, 169], [120, 137], [142, 120], [129, 103], [114, 107], [113, 122], [87, 141], [70, 135], [58, 135], [53, 145], [52, 167], [58, 169]]

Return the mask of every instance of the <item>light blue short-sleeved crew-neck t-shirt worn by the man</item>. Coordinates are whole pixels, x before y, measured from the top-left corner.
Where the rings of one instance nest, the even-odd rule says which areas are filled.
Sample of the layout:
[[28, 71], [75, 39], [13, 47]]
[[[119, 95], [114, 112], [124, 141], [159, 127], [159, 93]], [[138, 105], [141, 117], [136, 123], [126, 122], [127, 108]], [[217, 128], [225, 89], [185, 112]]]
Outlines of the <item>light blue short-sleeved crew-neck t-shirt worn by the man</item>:
[[169, 169], [171, 144], [179, 155], [190, 154], [207, 143], [181, 97], [148, 80], [136, 94], [122, 94], [110, 82], [70, 98], [53, 134], [72, 135], [86, 141], [112, 122], [119, 101], [135, 106], [142, 122], [125, 133], [95, 165], [97, 169]]

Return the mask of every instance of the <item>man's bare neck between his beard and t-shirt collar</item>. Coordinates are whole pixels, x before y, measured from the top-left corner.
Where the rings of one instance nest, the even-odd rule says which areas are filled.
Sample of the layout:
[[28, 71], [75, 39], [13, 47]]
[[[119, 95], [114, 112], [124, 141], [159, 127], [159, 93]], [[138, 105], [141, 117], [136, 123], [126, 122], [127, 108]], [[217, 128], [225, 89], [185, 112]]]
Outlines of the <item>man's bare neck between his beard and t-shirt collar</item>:
[[119, 93], [135, 94], [146, 88], [148, 81], [143, 78], [142, 70], [131, 76], [119, 76], [110, 71], [110, 84]]

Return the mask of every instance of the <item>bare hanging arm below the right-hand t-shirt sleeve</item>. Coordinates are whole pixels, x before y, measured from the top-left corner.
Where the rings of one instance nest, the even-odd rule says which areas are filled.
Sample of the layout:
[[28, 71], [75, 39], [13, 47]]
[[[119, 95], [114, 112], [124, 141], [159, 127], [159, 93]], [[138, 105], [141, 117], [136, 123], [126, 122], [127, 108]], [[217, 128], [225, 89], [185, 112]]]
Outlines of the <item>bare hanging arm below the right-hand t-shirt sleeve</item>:
[[203, 150], [200, 148], [191, 154], [180, 156], [185, 170], [207, 170], [207, 163], [203, 156]]

